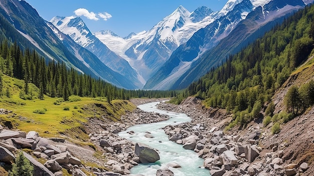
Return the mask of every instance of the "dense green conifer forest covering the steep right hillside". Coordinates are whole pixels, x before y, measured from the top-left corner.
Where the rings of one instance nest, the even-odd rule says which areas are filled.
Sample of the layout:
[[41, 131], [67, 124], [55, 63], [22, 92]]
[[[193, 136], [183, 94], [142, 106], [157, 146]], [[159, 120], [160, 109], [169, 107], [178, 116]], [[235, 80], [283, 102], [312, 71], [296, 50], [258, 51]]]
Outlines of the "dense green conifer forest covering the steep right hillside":
[[[313, 17], [314, 6], [296, 12], [262, 38], [227, 58], [223, 65], [192, 83], [172, 102], [180, 103], [187, 96], [197, 96], [205, 99], [206, 106], [226, 108], [234, 114], [229, 127], [245, 126], [259, 117], [267, 104], [267, 111], [273, 111], [271, 97], [275, 90], [307, 60], [314, 48]], [[307, 92], [311, 85], [308, 84]], [[295, 106], [289, 107], [288, 112], [295, 112]], [[271, 113], [266, 115], [273, 115]], [[291, 118], [293, 115], [297, 114], [285, 116]]]

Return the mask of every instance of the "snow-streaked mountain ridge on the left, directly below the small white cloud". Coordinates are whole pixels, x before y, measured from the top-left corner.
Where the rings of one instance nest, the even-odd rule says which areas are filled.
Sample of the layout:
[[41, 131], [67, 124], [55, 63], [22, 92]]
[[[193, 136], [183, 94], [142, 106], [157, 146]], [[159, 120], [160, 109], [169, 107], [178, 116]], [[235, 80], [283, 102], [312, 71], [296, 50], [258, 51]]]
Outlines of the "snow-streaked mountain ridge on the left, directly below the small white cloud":
[[[96, 38], [81, 18], [57, 16], [52, 18], [50, 22], [62, 33], [69, 35], [77, 44], [96, 55], [110, 69], [125, 76], [137, 88], [142, 87], [143, 83], [139, 81], [140, 76], [129, 63]], [[111, 33], [111, 35], [114, 36], [115, 34]]]

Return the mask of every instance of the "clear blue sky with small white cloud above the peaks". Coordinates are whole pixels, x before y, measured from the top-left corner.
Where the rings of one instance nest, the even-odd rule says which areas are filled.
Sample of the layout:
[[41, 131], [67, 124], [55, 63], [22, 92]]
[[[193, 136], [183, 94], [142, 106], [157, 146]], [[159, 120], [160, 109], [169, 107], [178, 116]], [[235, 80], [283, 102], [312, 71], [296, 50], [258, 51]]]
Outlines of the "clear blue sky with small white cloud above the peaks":
[[227, 0], [26, 0], [26, 2], [47, 21], [55, 16], [81, 16], [92, 32], [110, 30], [125, 37], [131, 32], [150, 30], [180, 5], [190, 12], [201, 6], [219, 11]]

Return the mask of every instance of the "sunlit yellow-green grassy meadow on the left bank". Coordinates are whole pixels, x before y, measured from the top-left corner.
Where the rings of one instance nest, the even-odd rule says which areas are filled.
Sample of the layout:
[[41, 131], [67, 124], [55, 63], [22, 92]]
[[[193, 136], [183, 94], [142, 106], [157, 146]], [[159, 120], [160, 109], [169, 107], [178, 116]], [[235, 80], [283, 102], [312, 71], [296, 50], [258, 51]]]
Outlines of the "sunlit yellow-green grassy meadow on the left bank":
[[[37, 98], [39, 89], [33, 84], [29, 84], [30, 89], [33, 90], [33, 100], [24, 100], [19, 97], [20, 91], [23, 91], [21, 88], [24, 87], [24, 81], [6, 75], [3, 78], [4, 90], [9, 88], [12, 96], [11, 98], [2, 96], [0, 107], [12, 110], [17, 115], [12, 118], [8, 117], [7, 114], [1, 114], [0, 124], [9, 121], [13, 127], [19, 130], [25, 132], [35, 130], [43, 137], [58, 136], [61, 133], [67, 134], [67, 131], [74, 133], [75, 130], [73, 129], [81, 127], [82, 123], [86, 123], [89, 117], [102, 118], [105, 116], [113, 121], [118, 121], [126, 110], [136, 108], [135, 105], [125, 100], [112, 100], [111, 104], [108, 104], [90, 97], [70, 96], [69, 100], [71, 101], [62, 102], [60, 98], [51, 98], [45, 95], [44, 100], [40, 100]], [[60, 105], [55, 104], [55, 102]], [[64, 110], [65, 107], [69, 107], [69, 110]], [[77, 109], [70, 109], [70, 107]], [[34, 111], [44, 111], [45, 109], [47, 111], [44, 114], [34, 113]], [[27, 120], [21, 120], [19, 116], [26, 117]]]

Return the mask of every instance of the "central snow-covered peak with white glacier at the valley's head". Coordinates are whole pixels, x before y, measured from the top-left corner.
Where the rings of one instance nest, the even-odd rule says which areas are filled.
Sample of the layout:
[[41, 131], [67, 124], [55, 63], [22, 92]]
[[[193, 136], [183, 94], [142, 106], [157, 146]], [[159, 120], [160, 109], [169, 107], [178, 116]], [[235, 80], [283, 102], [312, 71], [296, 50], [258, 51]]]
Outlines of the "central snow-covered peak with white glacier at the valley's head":
[[131, 34], [126, 38], [100, 31], [94, 35], [148, 80], [169, 59], [181, 44], [199, 29], [213, 22], [217, 12], [200, 7], [190, 13], [180, 6], [149, 31]]

